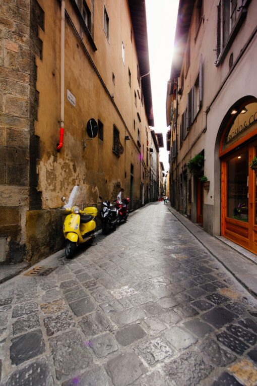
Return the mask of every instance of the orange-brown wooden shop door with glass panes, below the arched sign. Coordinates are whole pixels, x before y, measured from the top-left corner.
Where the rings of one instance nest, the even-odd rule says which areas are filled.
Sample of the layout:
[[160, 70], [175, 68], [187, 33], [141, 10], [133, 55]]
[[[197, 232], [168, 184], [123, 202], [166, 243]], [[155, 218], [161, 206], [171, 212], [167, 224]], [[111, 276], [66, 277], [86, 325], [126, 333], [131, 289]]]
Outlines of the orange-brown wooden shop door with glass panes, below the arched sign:
[[221, 234], [257, 253], [256, 172], [249, 168], [255, 154], [253, 143], [222, 161]]

